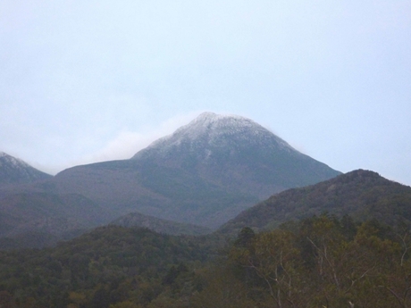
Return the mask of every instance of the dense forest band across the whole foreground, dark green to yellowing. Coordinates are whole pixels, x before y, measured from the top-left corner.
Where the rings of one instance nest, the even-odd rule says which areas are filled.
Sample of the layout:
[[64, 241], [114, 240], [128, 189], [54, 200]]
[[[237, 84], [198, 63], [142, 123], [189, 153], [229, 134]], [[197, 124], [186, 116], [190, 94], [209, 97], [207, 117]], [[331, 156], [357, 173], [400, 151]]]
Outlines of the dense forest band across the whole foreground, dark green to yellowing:
[[313, 216], [229, 242], [108, 226], [0, 253], [0, 307], [409, 307], [409, 225]]

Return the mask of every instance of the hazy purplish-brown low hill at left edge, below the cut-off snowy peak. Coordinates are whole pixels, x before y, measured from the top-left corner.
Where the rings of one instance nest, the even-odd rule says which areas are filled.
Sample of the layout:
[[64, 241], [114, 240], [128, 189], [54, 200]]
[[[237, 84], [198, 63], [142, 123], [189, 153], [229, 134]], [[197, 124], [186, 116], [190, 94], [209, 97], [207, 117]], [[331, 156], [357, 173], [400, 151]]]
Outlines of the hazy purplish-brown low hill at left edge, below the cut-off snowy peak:
[[0, 198], [0, 237], [7, 239], [0, 241], [0, 248], [53, 245], [106, 222], [107, 217], [98, 204], [76, 194], [5, 196]]

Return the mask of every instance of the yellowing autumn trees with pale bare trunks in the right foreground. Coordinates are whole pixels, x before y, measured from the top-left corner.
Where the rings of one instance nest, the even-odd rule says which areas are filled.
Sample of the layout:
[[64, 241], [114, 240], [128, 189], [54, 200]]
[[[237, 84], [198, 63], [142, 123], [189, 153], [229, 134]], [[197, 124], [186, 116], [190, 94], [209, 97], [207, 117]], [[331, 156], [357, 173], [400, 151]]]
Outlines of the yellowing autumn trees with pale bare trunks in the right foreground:
[[248, 296], [267, 306], [409, 307], [409, 228], [396, 239], [378, 221], [347, 220], [322, 215], [294, 231], [256, 234], [247, 246], [231, 248], [229, 263], [242, 269], [241, 279], [252, 278]]

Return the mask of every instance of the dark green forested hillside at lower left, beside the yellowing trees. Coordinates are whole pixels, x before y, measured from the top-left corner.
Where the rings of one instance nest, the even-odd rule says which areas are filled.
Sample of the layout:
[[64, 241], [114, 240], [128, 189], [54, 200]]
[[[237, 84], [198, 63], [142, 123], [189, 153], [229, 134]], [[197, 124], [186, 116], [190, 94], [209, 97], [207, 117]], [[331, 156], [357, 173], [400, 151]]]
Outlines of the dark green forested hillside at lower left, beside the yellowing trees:
[[0, 305], [5, 295], [12, 307], [83, 308], [190, 295], [211, 251], [205, 238], [109, 226], [55, 248], [0, 252]]

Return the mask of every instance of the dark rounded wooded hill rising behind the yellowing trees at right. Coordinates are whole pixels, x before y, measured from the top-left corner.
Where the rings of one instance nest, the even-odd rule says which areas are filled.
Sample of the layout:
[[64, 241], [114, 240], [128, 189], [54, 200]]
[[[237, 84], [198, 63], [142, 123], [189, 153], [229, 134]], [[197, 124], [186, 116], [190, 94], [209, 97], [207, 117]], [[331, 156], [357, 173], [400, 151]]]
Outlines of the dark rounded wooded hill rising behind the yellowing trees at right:
[[411, 221], [411, 187], [384, 179], [373, 171], [357, 170], [308, 187], [292, 188], [241, 212], [225, 223], [219, 234], [240, 229], [273, 229], [282, 222], [323, 212], [357, 221], [377, 219], [394, 225]]

